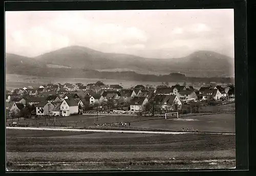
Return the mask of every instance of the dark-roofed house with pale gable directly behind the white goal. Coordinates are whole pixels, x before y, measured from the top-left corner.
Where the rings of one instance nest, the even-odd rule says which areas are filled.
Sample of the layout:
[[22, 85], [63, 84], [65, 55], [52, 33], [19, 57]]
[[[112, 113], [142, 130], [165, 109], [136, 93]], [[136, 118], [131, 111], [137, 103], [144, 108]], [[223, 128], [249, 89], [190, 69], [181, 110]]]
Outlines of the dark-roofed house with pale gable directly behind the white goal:
[[182, 105], [182, 102], [177, 95], [156, 95], [154, 102], [162, 110], [175, 110], [175, 104], [178, 105], [178, 108]]

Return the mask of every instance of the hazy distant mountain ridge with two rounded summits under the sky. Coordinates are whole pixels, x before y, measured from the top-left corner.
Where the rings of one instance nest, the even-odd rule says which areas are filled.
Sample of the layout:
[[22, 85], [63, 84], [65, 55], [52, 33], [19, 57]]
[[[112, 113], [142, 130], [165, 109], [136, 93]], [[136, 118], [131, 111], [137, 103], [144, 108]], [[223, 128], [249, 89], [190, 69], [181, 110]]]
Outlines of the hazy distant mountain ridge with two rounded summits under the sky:
[[[103, 53], [86, 47], [71, 46], [34, 58], [6, 54], [7, 70], [24, 72], [22, 68], [81, 69], [97, 71], [134, 71], [140, 74], [183, 73], [195, 77], [230, 77], [234, 74], [234, 59], [212, 52], [197, 51], [186, 57], [170, 59], [144, 58], [116, 53]], [[48, 70], [48, 69], [46, 69]]]

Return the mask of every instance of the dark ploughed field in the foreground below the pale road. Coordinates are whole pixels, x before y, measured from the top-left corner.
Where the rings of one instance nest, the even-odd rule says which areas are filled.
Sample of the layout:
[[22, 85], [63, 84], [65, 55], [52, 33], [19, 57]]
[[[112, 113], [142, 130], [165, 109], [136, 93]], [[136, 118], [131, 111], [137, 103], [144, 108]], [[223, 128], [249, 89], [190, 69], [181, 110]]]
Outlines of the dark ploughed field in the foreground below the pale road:
[[[146, 168], [145, 166], [147, 169], [216, 168], [220, 166], [225, 168], [234, 167], [234, 162], [202, 166], [188, 163], [191, 160], [234, 160], [235, 158], [234, 135], [150, 135], [7, 129], [6, 140], [9, 170], [38, 169], [44, 162], [69, 163], [54, 166], [43, 164], [45, 169], [50, 170], [73, 168], [71, 166], [74, 162], [84, 163], [82, 166], [78, 164], [80, 168], [77, 166], [73, 169], [85, 170], [92, 168], [125, 169], [126, 167], [143, 169]], [[173, 158], [183, 162], [168, 163]], [[93, 166], [89, 162], [93, 162]], [[122, 162], [123, 164], [120, 164]], [[162, 163], [148, 166], [143, 162]], [[31, 166], [31, 163], [34, 166]]]

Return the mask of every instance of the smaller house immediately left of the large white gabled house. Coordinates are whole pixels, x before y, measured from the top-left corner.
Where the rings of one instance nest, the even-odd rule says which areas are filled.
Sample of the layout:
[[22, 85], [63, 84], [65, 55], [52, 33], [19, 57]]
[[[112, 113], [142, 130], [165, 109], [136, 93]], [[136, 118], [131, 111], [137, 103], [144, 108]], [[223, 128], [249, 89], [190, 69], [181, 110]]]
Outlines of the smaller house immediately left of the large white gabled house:
[[43, 101], [35, 106], [35, 112], [37, 116], [52, 116], [52, 110], [54, 108], [54, 104], [52, 102]]

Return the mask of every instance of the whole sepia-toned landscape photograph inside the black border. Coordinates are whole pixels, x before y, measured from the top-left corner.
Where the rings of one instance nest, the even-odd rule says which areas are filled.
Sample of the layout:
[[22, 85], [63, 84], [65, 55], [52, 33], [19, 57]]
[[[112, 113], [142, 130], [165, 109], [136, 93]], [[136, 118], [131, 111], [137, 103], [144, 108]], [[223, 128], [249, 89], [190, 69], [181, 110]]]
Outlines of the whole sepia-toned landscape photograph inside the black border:
[[6, 11], [5, 73], [6, 171], [236, 168], [233, 9]]

